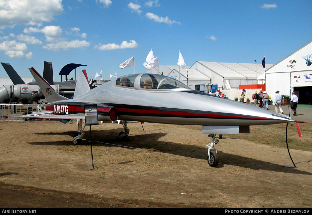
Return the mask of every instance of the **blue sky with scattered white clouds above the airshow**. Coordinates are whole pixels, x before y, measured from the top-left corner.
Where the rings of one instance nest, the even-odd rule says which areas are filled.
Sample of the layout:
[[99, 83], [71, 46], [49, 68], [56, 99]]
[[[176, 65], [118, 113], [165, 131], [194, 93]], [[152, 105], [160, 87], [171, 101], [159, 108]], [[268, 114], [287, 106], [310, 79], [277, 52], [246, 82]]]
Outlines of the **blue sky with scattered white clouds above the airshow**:
[[[312, 40], [310, 0], [0, 0], [0, 62], [22, 78], [53, 63], [87, 65], [89, 78], [133, 73], [151, 49], [159, 65], [195, 61], [275, 64]], [[70, 77], [75, 77], [72, 72]], [[0, 67], [0, 78], [8, 78]], [[99, 79], [99, 78], [98, 78]], [[64, 79], [63, 79], [64, 80]]]

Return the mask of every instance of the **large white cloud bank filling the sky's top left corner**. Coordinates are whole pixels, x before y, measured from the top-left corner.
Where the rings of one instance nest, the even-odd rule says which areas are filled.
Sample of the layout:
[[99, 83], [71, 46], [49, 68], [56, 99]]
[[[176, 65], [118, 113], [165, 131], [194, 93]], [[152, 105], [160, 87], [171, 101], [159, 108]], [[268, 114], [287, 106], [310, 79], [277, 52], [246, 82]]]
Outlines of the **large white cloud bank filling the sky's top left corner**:
[[0, 28], [50, 22], [62, 12], [62, 0], [0, 0]]

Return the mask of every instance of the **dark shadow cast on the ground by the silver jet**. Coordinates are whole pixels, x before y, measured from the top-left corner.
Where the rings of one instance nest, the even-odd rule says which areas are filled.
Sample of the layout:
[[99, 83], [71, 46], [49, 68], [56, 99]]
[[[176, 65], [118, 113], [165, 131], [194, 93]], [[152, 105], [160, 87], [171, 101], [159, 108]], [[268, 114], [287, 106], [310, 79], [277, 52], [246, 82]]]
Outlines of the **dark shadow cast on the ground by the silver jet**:
[[[111, 143], [115, 145], [123, 145], [127, 147], [134, 148], [147, 148], [154, 149], [162, 153], [170, 153], [178, 156], [203, 159], [207, 162], [207, 148], [205, 146], [195, 146], [182, 143], [172, 143], [159, 141], [161, 137], [167, 135], [167, 133], [152, 133], [152, 134], [139, 134], [129, 136], [129, 139], [126, 141], [119, 141], [117, 136], [122, 129], [111, 129], [105, 131], [92, 131], [92, 141], [100, 141], [103, 143]], [[45, 135], [69, 135], [73, 136], [76, 132], [65, 132], [65, 133], [37, 133]], [[69, 141], [58, 141], [58, 142], [28, 142], [32, 145], [73, 145], [71, 140]], [[112, 145], [107, 145], [103, 143], [92, 143], [93, 146], [103, 146], [103, 147], [116, 147]], [[90, 132], [86, 132], [84, 139], [81, 141], [82, 145], [90, 145]], [[256, 152], [255, 152], [256, 153]], [[259, 152], [261, 153], [261, 152]], [[262, 152], [265, 153], [265, 152]], [[218, 150], [219, 155], [219, 165], [217, 168], [222, 168], [224, 165], [233, 165], [243, 168], [249, 168], [253, 170], [268, 170], [274, 172], [284, 172], [284, 173], [295, 173], [295, 174], [304, 174], [312, 175], [312, 173], [301, 171], [296, 168], [285, 168], [281, 164], [270, 163], [267, 161], [257, 160], [254, 158], [247, 158], [240, 155], [234, 155], [229, 153], [224, 153]], [[287, 155], [285, 155], [287, 156]], [[302, 162], [302, 161], [300, 161]], [[299, 163], [300, 163], [299, 162]], [[291, 161], [290, 161], [291, 164]], [[210, 168], [207, 163], [207, 168]]]

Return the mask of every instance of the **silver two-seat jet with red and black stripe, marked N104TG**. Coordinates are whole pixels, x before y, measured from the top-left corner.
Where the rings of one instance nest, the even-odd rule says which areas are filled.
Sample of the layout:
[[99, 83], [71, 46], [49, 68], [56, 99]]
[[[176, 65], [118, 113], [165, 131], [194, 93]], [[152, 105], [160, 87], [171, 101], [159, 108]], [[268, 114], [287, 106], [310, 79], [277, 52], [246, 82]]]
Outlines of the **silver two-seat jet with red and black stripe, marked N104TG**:
[[[68, 99], [56, 93], [34, 68], [29, 70], [48, 104], [44, 112], [18, 118], [49, 118], [66, 123], [85, 119], [85, 106], [88, 110], [87, 105], [96, 105], [98, 121], [124, 121], [119, 138], [129, 135], [126, 121], [202, 125], [202, 133], [210, 134], [207, 160], [212, 167], [218, 165], [216, 134], [249, 133], [250, 125], [295, 122], [283, 114], [197, 92], [173, 78], [148, 73], [122, 76], [90, 90], [84, 73], [79, 72], [74, 98]], [[82, 120], [78, 132], [74, 143], [84, 134]]]

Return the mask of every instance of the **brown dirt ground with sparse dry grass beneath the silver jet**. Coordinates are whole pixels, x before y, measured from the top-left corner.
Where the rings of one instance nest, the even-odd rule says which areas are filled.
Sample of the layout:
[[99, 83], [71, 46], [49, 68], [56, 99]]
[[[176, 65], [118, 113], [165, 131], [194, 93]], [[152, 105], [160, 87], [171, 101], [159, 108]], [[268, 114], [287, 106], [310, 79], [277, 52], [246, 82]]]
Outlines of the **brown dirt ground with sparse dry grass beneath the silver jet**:
[[92, 126], [92, 140], [103, 143], [92, 144], [97, 169], [90, 170], [90, 126], [74, 145], [76, 122], [0, 121], [0, 207], [312, 207], [309, 151], [291, 149], [298, 168], [285, 168], [292, 165], [286, 147], [224, 135], [211, 168], [201, 126], [129, 128], [129, 140], [119, 142], [121, 124]]

